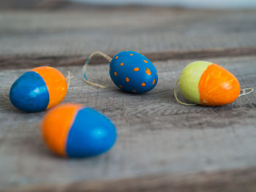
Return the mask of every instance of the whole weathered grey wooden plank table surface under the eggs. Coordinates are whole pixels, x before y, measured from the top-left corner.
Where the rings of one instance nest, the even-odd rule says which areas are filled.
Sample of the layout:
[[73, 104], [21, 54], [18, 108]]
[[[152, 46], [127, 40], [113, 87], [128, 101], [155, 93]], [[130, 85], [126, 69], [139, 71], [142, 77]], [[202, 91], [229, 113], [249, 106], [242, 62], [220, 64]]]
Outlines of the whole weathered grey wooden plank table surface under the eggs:
[[[256, 191], [256, 93], [224, 107], [187, 107], [173, 96], [182, 69], [196, 60], [256, 88], [256, 10], [1, 10], [0, 34], [0, 191]], [[99, 57], [88, 77], [106, 88], [87, 85], [82, 65], [96, 50], [143, 53], [157, 67], [156, 88], [118, 90]], [[56, 157], [40, 137], [45, 112], [20, 112], [4, 97], [20, 74], [47, 65], [74, 76], [62, 103], [93, 107], [116, 124], [108, 153]]]

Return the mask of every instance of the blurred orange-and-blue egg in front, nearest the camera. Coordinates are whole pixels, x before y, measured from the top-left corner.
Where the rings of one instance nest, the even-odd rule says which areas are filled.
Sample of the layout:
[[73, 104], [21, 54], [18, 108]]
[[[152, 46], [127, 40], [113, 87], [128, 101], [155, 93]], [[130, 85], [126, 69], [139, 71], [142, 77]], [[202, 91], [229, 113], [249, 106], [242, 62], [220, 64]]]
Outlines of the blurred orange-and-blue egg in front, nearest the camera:
[[80, 104], [60, 104], [42, 120], [42, 137], [54, 153], [83, 158], [110, 150], [116, 142], [116, 128], [101, 113]]

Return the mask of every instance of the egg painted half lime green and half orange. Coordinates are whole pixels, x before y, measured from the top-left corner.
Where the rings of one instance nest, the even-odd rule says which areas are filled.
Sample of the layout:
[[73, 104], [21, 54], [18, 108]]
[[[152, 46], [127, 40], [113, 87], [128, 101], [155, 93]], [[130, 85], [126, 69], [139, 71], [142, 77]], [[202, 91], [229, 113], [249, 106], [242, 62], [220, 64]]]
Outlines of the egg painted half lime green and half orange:
[[208, 106], [230, 104], [240, 94], [236, 77], [222, 66], [208, 61], [188, 64], [181, 72], [179, 84], [186, 99]]

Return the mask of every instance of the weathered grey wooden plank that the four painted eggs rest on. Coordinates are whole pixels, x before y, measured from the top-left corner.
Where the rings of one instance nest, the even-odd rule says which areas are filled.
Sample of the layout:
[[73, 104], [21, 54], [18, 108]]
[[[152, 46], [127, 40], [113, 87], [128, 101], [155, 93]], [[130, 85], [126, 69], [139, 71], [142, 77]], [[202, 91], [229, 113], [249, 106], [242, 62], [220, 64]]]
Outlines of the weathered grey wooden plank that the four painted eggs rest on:
[[[233, 72], [242, 88], [256, 87], [255, 59], [255, 56], [208, 58]], [[181, 70], [191, 61], [155, 62], [159, 73], [158, 85], [153, 91], [140, 95], [119, 91], [108, 78], [108, 65], [91, 65], [88, 70], [89, 79], [106, 85], [105, 89], [83, 82], [81, 66], [59, 67], [64, 74], [70, 70], [75, 76], [63, 102], [94, 107], [108, 115], [118, 128], [118, 141], [113, 149], [94, 158], [67, 160], [49, 153], [39, 139], [38, 124], [45, 112], [20, 112], [0, 94], [0, 188], [60, 183], [79, 188], [84, 185], [68, 183], [91, 180], [97, 183], [148, 174], [187, 175], [256, 167], [256, 93], [242, 96], [224, 107], [178, 104], [173, 88]], [[25, 71], [1, 71], [0, 90], [9, 88]], [[252, 174], [255, 175], [254, 172]], [[252, 174], [245, 173], [244, 180], [238, 177], [237, 182], [246, 183], [248, 179], [248, 188], [255, 188], [255, 176]], [[193, 177], [189, 178], [193, 183]], [[229, 184], [232, 176], [226, 184], [222, 183], [222, 177], [217, 178], [219, 180], [213, 182], [212, 185], [216, 185], [212, 191], [218, 191], [218, 186], [223, 185], [228, 185], [229, 191], [233, 189]], [[143, 183], [140, 184], [143, 186]], [[157, 185], [171, 187], [174, 184], [170, 182], [169, 185], [167, 180], [163, 180]], [[203, 191], [208, 185], [212, 186], [211, 181], [207, 185], [199, 183], [192, 187], [201, 186]], [[109, 185], [110, 189], [112, 187], [112, 184]], [[129, 182], [124, 187], [129, 189]], [[95, 188], [94, 191], [100, 191], [100, 187]], [[186, 191], [183, 188], [179, 190]]]

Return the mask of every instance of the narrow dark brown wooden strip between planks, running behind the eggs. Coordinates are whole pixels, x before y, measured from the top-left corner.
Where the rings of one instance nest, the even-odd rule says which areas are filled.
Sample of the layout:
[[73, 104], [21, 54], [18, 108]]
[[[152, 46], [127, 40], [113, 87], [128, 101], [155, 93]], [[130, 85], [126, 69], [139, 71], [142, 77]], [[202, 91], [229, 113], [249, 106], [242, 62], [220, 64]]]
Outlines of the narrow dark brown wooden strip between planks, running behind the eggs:
[[[218, 48], [211, 50], [191, 50], [191, 51], [165, 51], [157, 53], [142, 53], [151, 61], [166, 61], [169, 59], [203, 59], [218, 57], [237, 57], [243, 55], [256, 55], [256, 47], [240, 48]], [[110, 54], [113, 58], [115, 54]], [[23, 69], [36, 66], [81, 66], [89, 55], [70, 56], [0, 56], [0, 69]], [[106, 64], [105, 58], [95, 55], [90, 64]]]

